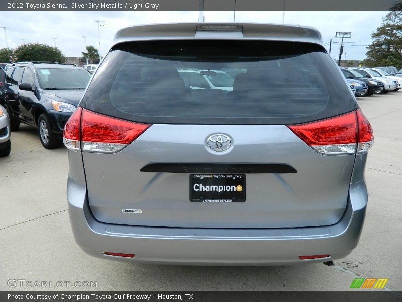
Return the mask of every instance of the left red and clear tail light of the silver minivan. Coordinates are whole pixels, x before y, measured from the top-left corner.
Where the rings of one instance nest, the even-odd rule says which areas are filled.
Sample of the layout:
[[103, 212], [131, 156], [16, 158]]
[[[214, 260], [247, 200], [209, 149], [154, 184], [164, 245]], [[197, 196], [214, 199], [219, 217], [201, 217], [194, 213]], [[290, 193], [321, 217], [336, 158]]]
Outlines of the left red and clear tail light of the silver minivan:
[[[71, 150], [79, 150], [81, 144], [83, 151], [118, 152], [150, 126], [78, 108], [64, 127], [63, 141]], [[78, 110], [82, 113], [77, 113]]]

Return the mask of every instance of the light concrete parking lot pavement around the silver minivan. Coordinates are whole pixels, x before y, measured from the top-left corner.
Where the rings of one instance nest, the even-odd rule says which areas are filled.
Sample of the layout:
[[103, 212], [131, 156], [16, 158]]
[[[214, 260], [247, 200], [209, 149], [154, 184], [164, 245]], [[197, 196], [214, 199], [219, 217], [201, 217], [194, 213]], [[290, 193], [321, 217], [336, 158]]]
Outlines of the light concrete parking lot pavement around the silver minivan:
[[[70, 228], [66, 149], [44, 149], [36, 129], [21, 125], [12, 133], [11, 155], [0, 158], [0, 290], [345, 291], [354, 278], [371, 277], [389, 278], [382, 290], [402, 291], [402, 92], [358, 103], [375, 137], [366, 166], [369, 204], [359, 245], [334, 266], [171, 266], [92, 258], [75, 244]], [[53, 286], [97, 281], [97, 287], [9, 287], [10, 279]]]

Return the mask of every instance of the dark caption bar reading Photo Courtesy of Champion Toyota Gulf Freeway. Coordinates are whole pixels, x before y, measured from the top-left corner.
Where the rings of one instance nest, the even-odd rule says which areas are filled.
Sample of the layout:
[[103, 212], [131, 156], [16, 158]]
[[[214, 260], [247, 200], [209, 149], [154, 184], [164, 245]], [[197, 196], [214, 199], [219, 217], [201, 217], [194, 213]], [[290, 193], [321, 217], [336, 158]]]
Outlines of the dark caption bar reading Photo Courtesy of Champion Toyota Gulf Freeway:
[[175, 291], [175, 292], [129, 292], [129, 291], [4, 291], [0, 292], [0, 301], [10, 302], [124, 302], [124, 301], [158, 301], [158, 302], [397, 302], [402, 300], [400, 292], [355, 290], [350, 292], [247, 292], [247, 291]]

